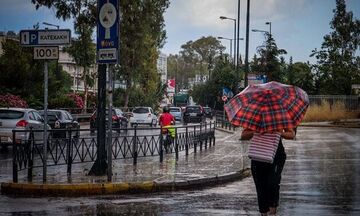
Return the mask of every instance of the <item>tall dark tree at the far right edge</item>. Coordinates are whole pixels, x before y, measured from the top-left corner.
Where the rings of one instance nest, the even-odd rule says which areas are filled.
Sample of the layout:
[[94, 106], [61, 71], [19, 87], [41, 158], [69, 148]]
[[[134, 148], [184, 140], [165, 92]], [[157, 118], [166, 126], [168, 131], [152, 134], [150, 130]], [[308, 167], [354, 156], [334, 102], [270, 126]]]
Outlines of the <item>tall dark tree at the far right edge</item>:
[[333, 12], [333, 31], [311, 54], [317, 59], [315, 86], [319, 93], [350, 94], [351, 84], [360, 83], [360, 20], [346, 11], [345, 0], [336, 0]]

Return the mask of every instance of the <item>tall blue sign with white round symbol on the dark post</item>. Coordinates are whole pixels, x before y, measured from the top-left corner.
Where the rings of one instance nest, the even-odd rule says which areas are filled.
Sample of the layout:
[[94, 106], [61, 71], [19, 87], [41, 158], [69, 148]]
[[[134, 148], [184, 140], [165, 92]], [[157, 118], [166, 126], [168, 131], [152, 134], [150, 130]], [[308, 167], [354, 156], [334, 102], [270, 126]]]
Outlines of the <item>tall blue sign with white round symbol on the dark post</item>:
[[119, 3], [118, 0], [98, 0], [97, 62], [119, 62]]

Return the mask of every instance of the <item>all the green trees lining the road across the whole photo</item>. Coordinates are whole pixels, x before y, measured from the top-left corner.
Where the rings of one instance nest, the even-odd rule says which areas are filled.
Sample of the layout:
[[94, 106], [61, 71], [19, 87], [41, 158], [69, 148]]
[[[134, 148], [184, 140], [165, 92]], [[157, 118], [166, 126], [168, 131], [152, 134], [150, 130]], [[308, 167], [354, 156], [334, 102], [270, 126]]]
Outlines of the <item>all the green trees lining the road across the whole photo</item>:
[[[88, 68], [95, 64], [95, 47], [91, 35], [96, 25], [96, 0], [32, 0], [36, 8], [48, 7], [56, 11], [58, 18], [74, 20], [77, 34], [74, 42], [66, 48], [83, 68], [85, 105], [87, 87], [92, 86], [96, 74]], [[157, 73], [156, 61], [159, 49], [166, 38], [163, 14], [169, 0], [123, 0], [120, 1], [120, 65], [115, 66], [116, 79], [126, 83], [125, 89], [114, 94], [116, 106], [148, 105], [155, 107], [164, 88]], [[274, 38], [267, 34], [264, 44], [250, 61], [251, 73], [265, 74], [268, 80], [297, 85], [309, 94], [351, 94], [351, 84], [360, 83], [360, 23], [352, 12], [346, 11], [344, 0], [336, 0], [334, 18], [330, 22], [333, 32], [324, 37], [319, 50], [311, 56], [317, 63], [285, 61], [286, 50], [278, 48]], [[0, 57], [0, 93], [11, 92], [25, 98], [29, 106], [42, 104], [43, 65], [32, 59], [29, 48], [8, 40]], [[168, 76], [177, 80], [177, 89], [189, 88], [189, 78], [196, 74], [209, 76], [210, 80], [194, 87], [193, 97], [200, 104], [221, 107], [221, 90], [227, 87], [238, 92], [239, 80], [244, 74], [234, 70], [231, 56], [223, 53], [223, 47], [215, 37], [202, 37], [181, 46], [179, 54], [168, 58]], [[239, 59], [239, 62], [242, 62]], [[71, 78], [50, 64], [49, 98], [67, 98]], [[218, 98], [213, 100], [212, 98]], [[91, 103], [90, 103], [91, 105]]]

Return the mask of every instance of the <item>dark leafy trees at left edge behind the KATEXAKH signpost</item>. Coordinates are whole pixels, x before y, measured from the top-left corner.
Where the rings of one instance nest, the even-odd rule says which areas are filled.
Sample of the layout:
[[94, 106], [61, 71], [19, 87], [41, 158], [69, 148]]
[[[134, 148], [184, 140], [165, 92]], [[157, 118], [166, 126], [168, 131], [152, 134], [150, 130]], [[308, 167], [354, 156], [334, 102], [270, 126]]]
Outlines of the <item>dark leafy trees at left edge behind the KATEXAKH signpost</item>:
[[[44, 95], [42, 62], [33, 60], [32, 49], [20, 47], [16, 40], [6, 40], [3, 50], [4, 53], [0, 57], [0, 95], [18, 95], [27, 101], [28, 106], [41, 107]], [[52, 103], [54, 98], [60, 98], [70, 92], [70, 75], [62, 70], [57, 71], [55, 62], [50, 62], [49, 103]]]

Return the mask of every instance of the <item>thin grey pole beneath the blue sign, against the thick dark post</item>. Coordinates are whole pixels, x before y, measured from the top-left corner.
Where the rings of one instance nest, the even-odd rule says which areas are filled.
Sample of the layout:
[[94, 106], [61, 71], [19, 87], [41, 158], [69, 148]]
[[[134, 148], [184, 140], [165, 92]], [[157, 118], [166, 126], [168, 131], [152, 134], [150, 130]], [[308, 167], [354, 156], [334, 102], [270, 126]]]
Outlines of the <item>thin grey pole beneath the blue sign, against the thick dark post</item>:
[[108, 181], [111, 182], [111, 178], [112, 178], [112, 115], [116, 115], [116, 113], [112, 112], [112, 108], [113, 108], [113, 95], [112, 95], [112, 90], [113, 90], [113, 79], [112, 79], [112, 75], [113, 75], [113, 71], [112, 71], [112, 67], [110, 67], [109, 64], [106, 64], [107, 67], [107, 74], [108, 74], [108, 100], [109, 100], [109, 107], [108, 107], [108, 140], [107, 140], [107, 144], [108, 144], [108, 148], [107, 148], [107, 156], [108, 156]]

